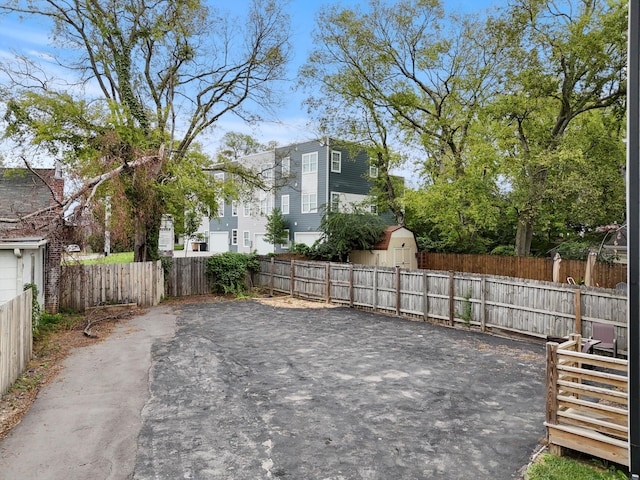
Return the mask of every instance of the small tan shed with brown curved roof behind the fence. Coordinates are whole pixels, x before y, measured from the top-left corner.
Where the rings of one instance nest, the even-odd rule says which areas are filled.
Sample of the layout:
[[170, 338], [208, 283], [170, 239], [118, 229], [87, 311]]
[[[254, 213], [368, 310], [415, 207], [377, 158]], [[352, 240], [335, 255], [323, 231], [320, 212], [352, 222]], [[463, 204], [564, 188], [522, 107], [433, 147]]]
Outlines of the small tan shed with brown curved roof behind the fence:
[[384, 239], [371, 250], [354, 250], [349, 255], [351, 263], [379, 267], [418, 268], [418, 244], [411, 230], [395, 225], [388, 227]]

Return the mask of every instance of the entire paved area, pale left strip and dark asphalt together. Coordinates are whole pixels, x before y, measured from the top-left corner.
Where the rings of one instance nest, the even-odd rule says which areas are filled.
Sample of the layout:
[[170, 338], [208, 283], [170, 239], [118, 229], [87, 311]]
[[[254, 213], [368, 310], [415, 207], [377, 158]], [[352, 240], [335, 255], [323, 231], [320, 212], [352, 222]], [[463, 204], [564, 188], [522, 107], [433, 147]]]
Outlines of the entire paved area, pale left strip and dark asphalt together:
[[0, 478], [509, 479], [544, 350], [348, 308], [160, 307], [68, 359]]

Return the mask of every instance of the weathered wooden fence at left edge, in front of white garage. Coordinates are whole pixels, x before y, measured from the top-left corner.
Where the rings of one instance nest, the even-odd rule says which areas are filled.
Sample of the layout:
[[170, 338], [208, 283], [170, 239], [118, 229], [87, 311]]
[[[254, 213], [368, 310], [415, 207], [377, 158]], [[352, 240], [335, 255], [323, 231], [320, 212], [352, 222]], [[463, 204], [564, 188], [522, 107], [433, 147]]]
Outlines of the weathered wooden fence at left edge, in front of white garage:
[[0, 396], [7, 393], [31, 360], [32, 289], [0, 305]]

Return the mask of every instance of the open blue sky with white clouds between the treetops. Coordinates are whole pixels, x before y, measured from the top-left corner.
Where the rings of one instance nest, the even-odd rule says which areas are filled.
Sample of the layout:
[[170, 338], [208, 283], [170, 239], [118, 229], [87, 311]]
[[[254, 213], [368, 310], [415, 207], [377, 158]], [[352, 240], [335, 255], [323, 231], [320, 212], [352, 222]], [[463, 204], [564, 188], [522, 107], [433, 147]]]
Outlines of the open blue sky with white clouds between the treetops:
[[[222, 2], [212, 3], [221, 4]], [[328, 4], [339, 3], [342, 6], [353, 6], [366, 3], [356, 0], [342, 0], [340, 2], [314, 0], [291, 0], [290, 15], [292, 38], [294, 46], [293, 59], [289, 68], [289, 77], [294, 80], [298, 68], [305, 62], [307, 55], [313, 48], [311, 32], [315, 28], [317, 12]], [[501, 6], [506, 0], [442, 0], [445, 10], [456, 13], [481, 13], [488, 8]], [[221, 7], [232, 14], [243, 15], [249, 0], [236, 0], [224, 2]], [[18, 22], [11, 18], [0, 17], [0, 62], [6, 61], [14, 55], [14, 52], [29, 57], [52, 60], [50, 58], [49, 31], [43, 23], [33, 20]], [[58, 70], [54, 62], [47, 62], [52, 71]], [[62, 74], [62, 70], [60, 70]], [[223, 118], [216, 131], [204, 142], [215, 149], [217, 140], [227, 131], [249, 133], [261, 142], [266, 143], [276, 140], [281, 145], [307, 140], [314, 136], [308, 127], [308, 118], [304, 107], [301, 105], [303, 95], [301, 92], [289, 91], [285, 93], [284, 105], [277, 112], [277, 122], [263, 122], [257, 127], [249, 127], [235, 117]]]

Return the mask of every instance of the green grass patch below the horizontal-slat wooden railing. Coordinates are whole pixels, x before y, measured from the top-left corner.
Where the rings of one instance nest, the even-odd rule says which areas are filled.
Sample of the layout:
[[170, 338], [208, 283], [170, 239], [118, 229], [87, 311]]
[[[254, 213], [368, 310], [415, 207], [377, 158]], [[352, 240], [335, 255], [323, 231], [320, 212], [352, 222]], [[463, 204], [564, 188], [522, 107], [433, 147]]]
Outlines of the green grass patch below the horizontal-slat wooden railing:
[[589, 465], [568, 457], [544, 455], [527, 470], [529, 480], [627, 480], [625, 472], [603, 468], [594, 461]]

